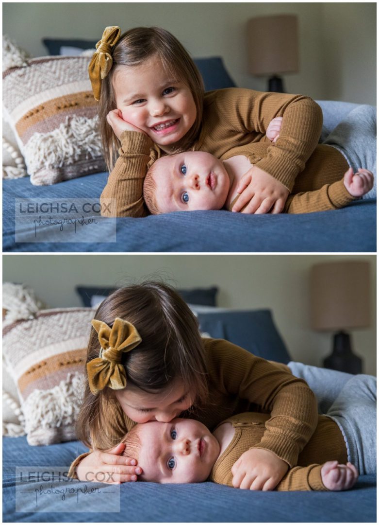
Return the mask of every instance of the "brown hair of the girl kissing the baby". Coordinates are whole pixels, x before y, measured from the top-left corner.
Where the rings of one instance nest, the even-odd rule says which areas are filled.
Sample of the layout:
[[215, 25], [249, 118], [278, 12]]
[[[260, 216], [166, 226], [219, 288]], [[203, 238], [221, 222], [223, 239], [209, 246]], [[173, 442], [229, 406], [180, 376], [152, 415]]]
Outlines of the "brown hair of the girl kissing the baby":
[[[123, 354], [126, 388], [157, 393], [179, 379], [186, 392], [196, 394], [195, 407], [207, 401], [207, 366], [198, 321], [174, 289], [156, 281], [118, 289], [95, 313], [95, 319], [109, 326], [116, 317], [134, 324], [142, 338], [136, 348]], [[98, 334], [92, 328], [86, 363], [99, 353]], [[105, 434], [113, 403], [117, 401], [111, 388], [93, 395], [86, 380], [76, 425], [77, 437], [85, 445], [105, 450], [120, 442], [120, 435]]]

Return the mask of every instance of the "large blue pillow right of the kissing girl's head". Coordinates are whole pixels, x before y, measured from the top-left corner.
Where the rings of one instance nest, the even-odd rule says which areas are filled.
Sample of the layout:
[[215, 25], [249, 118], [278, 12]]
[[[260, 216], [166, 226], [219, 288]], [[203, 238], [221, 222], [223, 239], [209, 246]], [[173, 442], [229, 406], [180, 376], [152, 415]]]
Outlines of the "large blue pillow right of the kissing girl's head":
[[287, 364], [291, 360], [270, 310], [199, 312], [198, 320], [200, 330], [212, 338], [226, 339], [269, 361]]

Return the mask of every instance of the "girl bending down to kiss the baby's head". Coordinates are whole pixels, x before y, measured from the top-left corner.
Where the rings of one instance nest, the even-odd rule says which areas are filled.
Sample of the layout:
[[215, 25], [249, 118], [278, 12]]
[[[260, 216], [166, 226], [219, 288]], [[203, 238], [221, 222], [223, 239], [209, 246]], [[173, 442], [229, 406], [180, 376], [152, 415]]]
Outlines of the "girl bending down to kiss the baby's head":
[[142, 470], [135, 458], [120, 456], [119, 444], [135, 423], [181, 416], [212, 430], [233, 414], [258, 408], [270, 417], [259, 447], [244, 453], [244, 464], [254, 465], [272, 490], [297, 464], [317, 425], [316, 398], [305, 381], [228, 341], [201, 339], [187, 304], [156, 282], [122, 288], [101, 303], [86, 368], [77, 435], [93, 451], [70, 468], [70, 476], [81, 480], [99, 472], [115, 483], [137, 478]]

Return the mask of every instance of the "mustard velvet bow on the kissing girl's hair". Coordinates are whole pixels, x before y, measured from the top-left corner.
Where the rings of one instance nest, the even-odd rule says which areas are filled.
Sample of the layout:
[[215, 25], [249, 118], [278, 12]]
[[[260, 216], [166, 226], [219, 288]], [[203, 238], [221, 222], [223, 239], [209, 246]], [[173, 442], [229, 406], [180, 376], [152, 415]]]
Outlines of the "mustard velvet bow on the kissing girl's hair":
[[106, 386], [121, 390], [126, 386], [122, 354], [133, 350], [142, 339], [134, 325], [120, 317], [116, 317], [112, 328], [96, 319], [93, 319], [92, 326], [98, 332], [101, 351], [100, 357], [87, 363], [91, 392], [96, 395]]

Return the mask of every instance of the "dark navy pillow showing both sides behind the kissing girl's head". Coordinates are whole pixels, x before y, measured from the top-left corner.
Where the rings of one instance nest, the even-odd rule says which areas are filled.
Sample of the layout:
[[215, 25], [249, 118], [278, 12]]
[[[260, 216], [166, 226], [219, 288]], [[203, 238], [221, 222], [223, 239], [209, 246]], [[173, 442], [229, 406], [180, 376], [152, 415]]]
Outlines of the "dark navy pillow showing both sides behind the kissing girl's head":
[[[109, 296], [117, 288], [108, 288], [104, 286], [77, 286], [75, 290], [79, 294], [83, 306], [91, 307], [93, 296]], [[190, 290], [177, 290], [180, 296], [191, 304], [201, 304], [202, 306], [216, 306], [216, 294], [219, 289], [216, 286], [210, 288], [192, 288]]]

